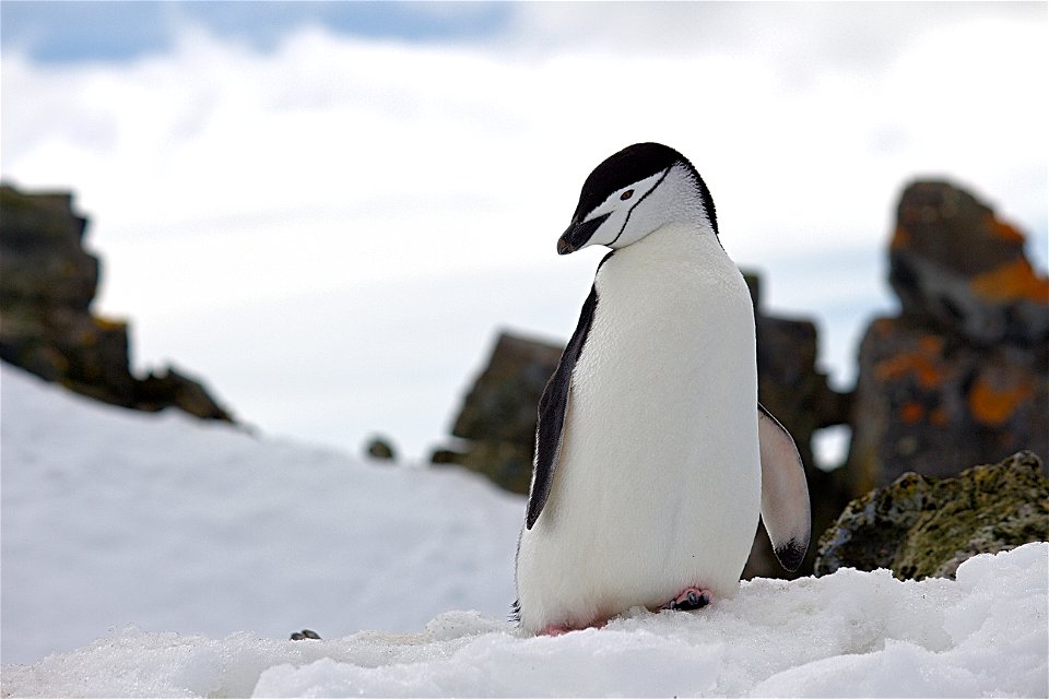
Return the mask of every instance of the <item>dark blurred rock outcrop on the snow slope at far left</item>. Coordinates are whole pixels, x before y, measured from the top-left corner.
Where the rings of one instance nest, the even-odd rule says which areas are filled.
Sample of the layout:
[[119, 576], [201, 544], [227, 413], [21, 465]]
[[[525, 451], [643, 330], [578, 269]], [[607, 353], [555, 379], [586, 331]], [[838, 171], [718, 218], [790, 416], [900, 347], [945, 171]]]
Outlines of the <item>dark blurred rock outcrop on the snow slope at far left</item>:
[[232, 422], [184, 372], [131, 374], [127, 323], [91, 312], [101, 265], [86, 225], [69, 193], [0, 186], [0, 359], [114, 405]]

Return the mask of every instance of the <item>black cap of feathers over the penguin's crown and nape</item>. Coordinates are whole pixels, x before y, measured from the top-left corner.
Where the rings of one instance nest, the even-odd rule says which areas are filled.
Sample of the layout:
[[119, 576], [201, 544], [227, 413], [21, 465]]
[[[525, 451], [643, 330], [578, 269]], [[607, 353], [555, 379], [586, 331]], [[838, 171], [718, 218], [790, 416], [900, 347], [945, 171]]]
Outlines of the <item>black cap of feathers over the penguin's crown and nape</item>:
[[582, 221], [582, 217], [594, 210], [609, 196], [627, 185], [662, 173], [675, 164], [684, 165], [696, 182], [696, 189], [703, 199], [703, 208], [710, 218], [710, 226], [715, 235], [718, 233], [718, 217], [714, 209], [714, 198], [706, 182], [688, 158], [662, 143], [635, 143], [618, 153], [610, 155], [600, 165], [593, 168], [590, 176], [582, 183], [579, 193], [579, 203], [573, 214], [573, 221]]

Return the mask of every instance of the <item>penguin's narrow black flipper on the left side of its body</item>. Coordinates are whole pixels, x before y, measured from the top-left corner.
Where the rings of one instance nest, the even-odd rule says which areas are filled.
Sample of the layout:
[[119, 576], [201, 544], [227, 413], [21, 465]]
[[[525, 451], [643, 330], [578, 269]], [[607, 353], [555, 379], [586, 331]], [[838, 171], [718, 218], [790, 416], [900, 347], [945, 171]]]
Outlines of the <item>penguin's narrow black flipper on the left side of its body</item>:
[[571, 371], [576, 367], [582, 345], [590, 333], [593, 323], [593, 311], [598, 307], [597, 286], [590, 287], [590, 295], [582, 304], [579, 322], [571, 333], [568, 346], [561, 355], [557, 369], [550, 377], [543, 396], [539, 401], [539, 424], [535, 428], [535, 459], [532, 462], [532, 488], [528, 497], [528, 516], [524, 522], [527, 529], [532, 529], [539, 519], [546, 498], [550, 497], [550, 487], [554, 482], [554, 469], [561, 455], [561, 445], [564, 439], [565, 415], [568, 414], [568, 393], [571, 389]]

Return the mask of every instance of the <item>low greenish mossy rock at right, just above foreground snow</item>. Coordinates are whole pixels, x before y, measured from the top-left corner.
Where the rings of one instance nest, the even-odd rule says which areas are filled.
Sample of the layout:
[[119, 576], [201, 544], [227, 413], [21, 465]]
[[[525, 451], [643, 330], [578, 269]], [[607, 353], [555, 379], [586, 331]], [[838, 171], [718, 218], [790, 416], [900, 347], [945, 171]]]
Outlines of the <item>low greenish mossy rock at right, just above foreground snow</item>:
[[977, 554], [1036, 541], [1049, 541], [1049, 479], [1022, 451], [955, 478], [907, 473], [851, 501], [820, 540], [815, 574], [847, 567], [951, 578]]

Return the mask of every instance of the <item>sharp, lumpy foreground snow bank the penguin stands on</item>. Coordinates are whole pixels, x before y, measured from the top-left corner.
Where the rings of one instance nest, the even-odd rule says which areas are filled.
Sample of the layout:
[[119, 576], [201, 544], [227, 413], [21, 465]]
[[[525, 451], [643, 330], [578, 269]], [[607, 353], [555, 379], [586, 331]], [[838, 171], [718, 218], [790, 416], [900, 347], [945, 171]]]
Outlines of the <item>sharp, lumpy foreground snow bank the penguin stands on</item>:
[[524, 638], [451, 612], [422, 633], [224, 640], [125, 629], [32, 666], [4, 696], [1045, 696], [1049, 544], [978, 556], [957, 581], [840, 570], [756, 580], [694, 613]]

